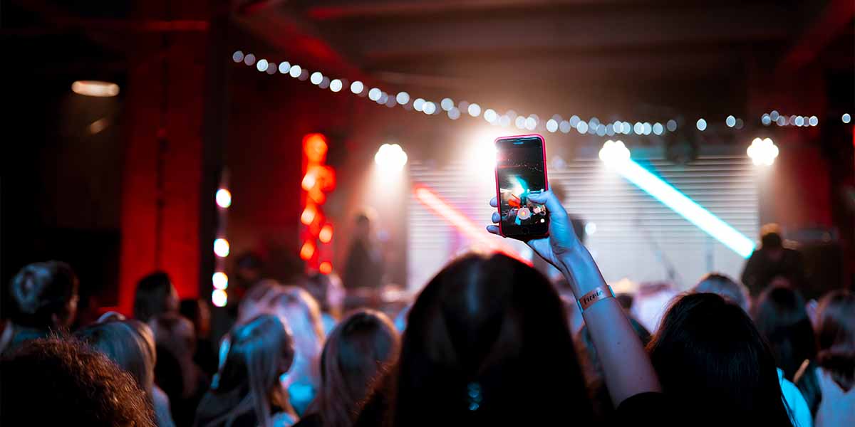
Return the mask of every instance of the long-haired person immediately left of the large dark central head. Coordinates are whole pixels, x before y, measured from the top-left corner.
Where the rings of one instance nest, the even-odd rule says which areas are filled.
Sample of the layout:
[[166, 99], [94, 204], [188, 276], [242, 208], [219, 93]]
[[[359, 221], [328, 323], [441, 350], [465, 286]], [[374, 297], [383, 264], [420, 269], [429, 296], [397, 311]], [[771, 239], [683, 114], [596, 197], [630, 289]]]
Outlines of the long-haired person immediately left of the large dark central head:
[[400, 338], [385, 314], [361, 310], [327, 338], [321, 389], [299, 427], [351, 427], [360, 405], [386, 368], [398, 360]]

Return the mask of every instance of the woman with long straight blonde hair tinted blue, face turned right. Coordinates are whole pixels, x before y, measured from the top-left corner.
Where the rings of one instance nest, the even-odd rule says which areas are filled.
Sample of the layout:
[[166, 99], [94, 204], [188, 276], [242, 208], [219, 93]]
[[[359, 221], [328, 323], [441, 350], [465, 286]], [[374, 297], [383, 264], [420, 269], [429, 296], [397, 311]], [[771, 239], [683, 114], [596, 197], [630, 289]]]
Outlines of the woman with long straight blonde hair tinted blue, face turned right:
[[198, 427], [284, 427], [297, 420], [280, 376], [292, 366], [294, 343], [280, 319], [262, 314], [230, 334], [220, 380], [199, 404]]

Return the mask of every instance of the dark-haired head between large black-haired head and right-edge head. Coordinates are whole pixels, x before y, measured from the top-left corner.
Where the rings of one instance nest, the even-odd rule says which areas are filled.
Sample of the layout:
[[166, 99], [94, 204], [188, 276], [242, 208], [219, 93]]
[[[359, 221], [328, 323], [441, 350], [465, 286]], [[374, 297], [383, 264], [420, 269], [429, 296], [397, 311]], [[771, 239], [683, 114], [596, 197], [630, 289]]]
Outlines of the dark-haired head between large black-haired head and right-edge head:
[[775, 361], [784, 377], [792, 381], [805, 360], [817, 356], [817, 340], [805, 300], [799, 292], [784, 285], [766, 288], [753, 309], [754, 323], [769, 342]]

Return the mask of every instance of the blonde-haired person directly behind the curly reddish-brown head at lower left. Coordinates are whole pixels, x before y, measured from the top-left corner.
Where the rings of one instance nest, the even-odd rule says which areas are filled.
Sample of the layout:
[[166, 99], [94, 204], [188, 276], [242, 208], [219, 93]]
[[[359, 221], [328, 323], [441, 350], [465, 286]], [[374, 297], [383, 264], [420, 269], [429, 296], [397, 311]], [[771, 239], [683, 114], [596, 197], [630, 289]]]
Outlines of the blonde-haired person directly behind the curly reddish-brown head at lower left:
[[131, 374], [154, 407], [158, 427], [174, 426], [168, 396], [155, 385], [156, 349], [148, 325], [117, 315], [86, 326], [74, 336]]

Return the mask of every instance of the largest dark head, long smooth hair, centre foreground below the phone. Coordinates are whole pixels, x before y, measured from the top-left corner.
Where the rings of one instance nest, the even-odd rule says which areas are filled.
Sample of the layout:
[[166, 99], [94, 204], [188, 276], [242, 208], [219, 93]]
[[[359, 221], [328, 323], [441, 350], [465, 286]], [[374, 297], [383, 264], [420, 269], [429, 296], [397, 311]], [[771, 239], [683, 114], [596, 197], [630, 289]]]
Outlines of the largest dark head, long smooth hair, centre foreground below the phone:
[[396, 375], [395, 425], [591, 422], [556, 290], [503, 254], [469, 254], [428, 283]]

